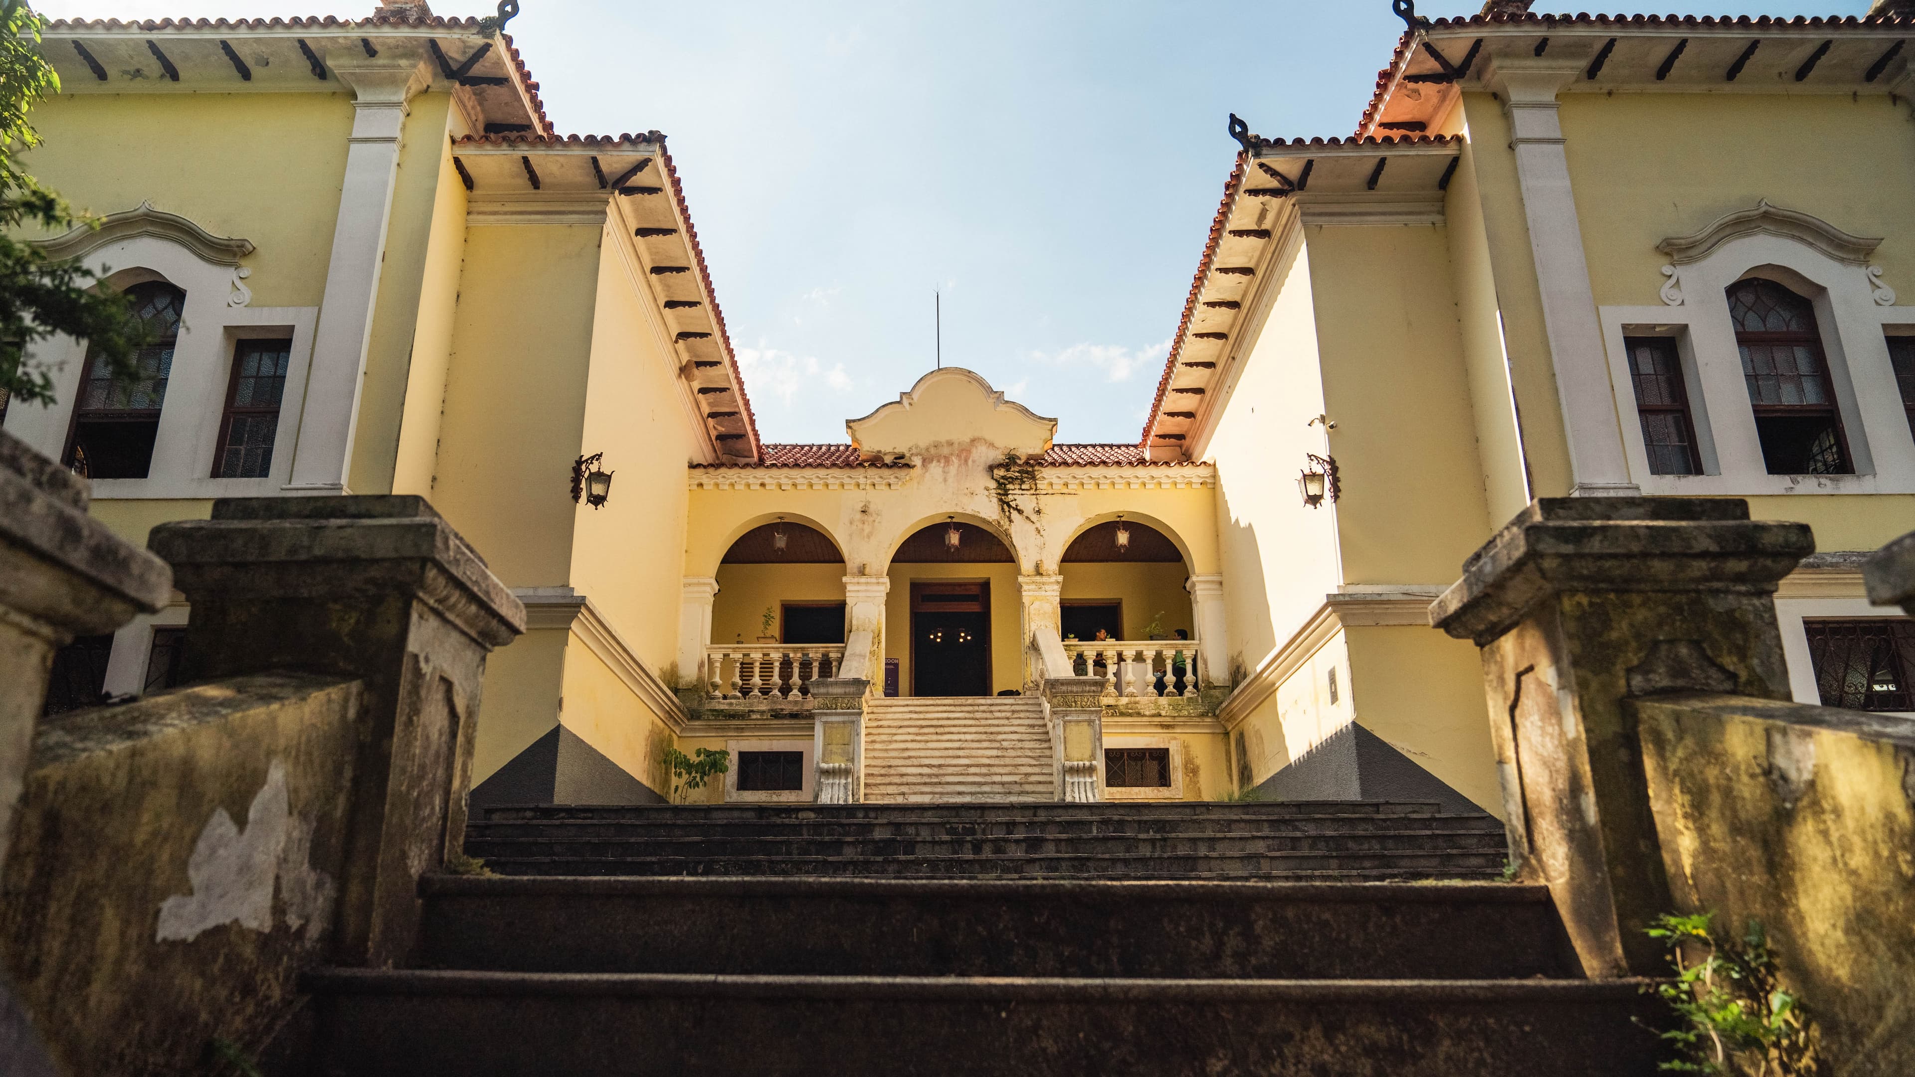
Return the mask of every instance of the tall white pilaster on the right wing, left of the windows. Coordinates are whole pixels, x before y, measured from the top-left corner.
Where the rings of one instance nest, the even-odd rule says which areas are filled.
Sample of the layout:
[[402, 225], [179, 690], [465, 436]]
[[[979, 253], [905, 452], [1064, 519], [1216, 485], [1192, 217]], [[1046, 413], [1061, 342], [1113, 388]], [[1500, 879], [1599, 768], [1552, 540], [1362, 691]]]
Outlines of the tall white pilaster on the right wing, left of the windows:
[[1509, 107], [1522, 216], [1530, 230], [1543, 331], [1568, 438], [1570, 495], [1635, 497], [1641, 490], [1630, 482], [1622, 451], [1616, 392], [1609, 383], [1603, 325], [1595, 314], [1557, 115], [1557, 90], [1582, 75], [1586, 65], [1588, 57], [1561, 55], [1498, 59], [1486, 78]]

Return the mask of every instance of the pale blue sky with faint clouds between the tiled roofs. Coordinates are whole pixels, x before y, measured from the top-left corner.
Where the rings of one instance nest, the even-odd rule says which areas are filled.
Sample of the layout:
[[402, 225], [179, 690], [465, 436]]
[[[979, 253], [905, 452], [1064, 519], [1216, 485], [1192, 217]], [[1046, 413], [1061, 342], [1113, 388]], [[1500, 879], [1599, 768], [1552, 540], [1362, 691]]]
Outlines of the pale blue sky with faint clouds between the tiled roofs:
[[[1859, 15], [1867, 0], [1599, 10]], [[1132, 442], [1231, 168], [1226, 115], [1272, 138], [1350, 134], [1402, 21], [1388, 0], [523, 0], [509, 29], [559, 132], [670, 136], [764, 440], [841, 442], [845, 419], [910, 388], [942, 291], [946, 363], [1055, 415], [1059, 440]]]

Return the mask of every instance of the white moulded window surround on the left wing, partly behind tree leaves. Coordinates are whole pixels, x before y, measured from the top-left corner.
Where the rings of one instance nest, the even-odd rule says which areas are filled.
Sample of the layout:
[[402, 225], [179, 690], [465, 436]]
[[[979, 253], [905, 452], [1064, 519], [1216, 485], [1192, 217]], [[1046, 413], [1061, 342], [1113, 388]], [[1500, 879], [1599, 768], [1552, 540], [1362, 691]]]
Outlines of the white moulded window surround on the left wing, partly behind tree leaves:
[[[86, 254], [113, 287], [140, 281], [167, 281], [186, 291], [180, 337], [172, 350], [167, 402], [159, 411], [153, 463], [146, 478], [96, 478], [94, 499], [146, 497], [264, 497], [285, 492], [293, 474], [293, 446], [304, 407], [306, 369], [312, 363], [312, 335], [320, 319], [316, 306], [243, 306], [245, 285], [234, 266], [207, 262], [182, 243], [159, 235], [134, 235], [105, 243]], [[109, 268], [115, 268], [107, 274]], [[234, 348], [245, 339], [291, 339], [285, 394], [280, 400], [280, 429], [272, 442], [272, 471], [266, 478], [213, 478], [226, 390], [232, 379]], [[73, 407], [86, 375], [86, 344], [73, 337], [54, 337], [33, 346], [33, 362], [54, 367], [52, 407], [13, 402], [6, 430], [40, 453], [59, 459], [67, 448]]]

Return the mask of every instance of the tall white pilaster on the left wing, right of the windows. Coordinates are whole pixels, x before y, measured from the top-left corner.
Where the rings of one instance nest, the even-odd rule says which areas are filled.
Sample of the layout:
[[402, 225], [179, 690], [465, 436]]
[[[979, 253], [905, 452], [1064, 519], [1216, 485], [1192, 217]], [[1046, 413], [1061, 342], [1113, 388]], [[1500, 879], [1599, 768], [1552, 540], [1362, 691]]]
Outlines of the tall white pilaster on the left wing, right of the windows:
[[421, 65], [350, 65], [333, 75], [352, 88], [352, 136], [347, 172], [339, 189], [339, 222], [333, 226], [326, 297], [312, 339], [293, 476], [287, 490], [345, 494], [358, 425], [360, 386], [366, 373], [366, 341], [372, 333], [385, 230], [393, 214], [393, 182], [398, 172], [398, 136], [406, 126], [406, 101], [427, 86]]

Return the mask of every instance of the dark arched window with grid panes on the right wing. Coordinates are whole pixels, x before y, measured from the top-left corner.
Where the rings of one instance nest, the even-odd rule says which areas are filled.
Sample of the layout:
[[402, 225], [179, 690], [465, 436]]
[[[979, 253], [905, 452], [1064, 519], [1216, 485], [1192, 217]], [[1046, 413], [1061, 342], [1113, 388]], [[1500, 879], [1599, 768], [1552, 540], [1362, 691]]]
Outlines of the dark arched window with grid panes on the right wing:
[[1854, 473], [1810, 300], [1750, 277], [1729, 285], [1729, 318], [1769, 474]]

